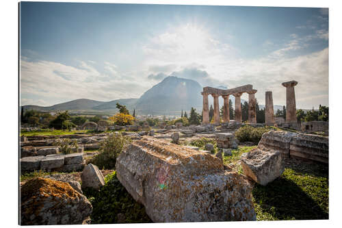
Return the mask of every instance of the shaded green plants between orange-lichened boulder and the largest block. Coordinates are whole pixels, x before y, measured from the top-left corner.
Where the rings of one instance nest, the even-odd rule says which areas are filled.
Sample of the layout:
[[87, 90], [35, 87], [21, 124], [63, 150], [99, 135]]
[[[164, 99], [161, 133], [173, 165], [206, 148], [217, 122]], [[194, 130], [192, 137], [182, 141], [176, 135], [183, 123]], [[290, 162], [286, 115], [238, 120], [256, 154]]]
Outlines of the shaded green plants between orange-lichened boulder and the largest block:
[[105, 177], [105, 185], [100, 190], [83, 189], [83, 194], [92, 203], [92, 224], [118, 223], [118, 214], [124, 214], [121, 223], [152, 223], [145, 208], [137, 203], [122, 186], [116, 172]]

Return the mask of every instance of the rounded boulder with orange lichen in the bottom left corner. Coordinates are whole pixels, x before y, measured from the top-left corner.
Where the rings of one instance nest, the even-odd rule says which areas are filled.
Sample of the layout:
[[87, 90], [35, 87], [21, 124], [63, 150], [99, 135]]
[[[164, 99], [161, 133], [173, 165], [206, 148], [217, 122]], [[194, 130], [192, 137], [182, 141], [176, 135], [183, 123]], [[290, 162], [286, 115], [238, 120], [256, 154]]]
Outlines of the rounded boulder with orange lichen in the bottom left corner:
[[21, 225], [83, 224], [91, 213], [88, 199], [69, 183], [38, 177], [21, 188]]

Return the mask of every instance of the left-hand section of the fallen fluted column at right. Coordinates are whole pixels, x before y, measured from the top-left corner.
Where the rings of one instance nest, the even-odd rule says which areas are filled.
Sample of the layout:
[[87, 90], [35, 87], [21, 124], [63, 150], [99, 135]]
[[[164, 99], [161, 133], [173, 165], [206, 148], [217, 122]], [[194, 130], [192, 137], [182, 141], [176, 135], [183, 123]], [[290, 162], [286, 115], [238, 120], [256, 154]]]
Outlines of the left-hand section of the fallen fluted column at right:
[[268, 131], [261, 137], [259, 149], [274, 149], [280, 151], [283, 157], [289, 157], [289, 142], [297, 134], [289, 131]]

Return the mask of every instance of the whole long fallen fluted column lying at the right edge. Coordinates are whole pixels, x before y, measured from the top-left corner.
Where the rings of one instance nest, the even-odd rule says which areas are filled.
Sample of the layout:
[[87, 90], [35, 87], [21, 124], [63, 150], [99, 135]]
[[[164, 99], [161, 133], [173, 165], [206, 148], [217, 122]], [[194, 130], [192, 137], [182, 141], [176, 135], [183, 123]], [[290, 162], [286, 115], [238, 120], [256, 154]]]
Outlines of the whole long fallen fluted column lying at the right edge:
[[300, 157], [326, 164], [329, 161], [329, 139], [324, 136], [269, 131], [263, 134], [258, 148], [278, 150], [284, 157]]

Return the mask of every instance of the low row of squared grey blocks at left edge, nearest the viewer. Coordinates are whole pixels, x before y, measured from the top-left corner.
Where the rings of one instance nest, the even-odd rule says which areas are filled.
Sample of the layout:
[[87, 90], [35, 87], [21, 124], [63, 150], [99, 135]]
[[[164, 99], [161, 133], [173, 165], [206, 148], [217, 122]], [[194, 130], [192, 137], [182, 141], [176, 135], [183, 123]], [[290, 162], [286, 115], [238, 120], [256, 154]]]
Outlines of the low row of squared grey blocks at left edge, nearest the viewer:
[[23, 157], [20, 160], [21, 172], [31, 172], [34, 170], [47, 170], [59, 172], [72, 172], [83, 170], [84, 153], [63, 153]]

